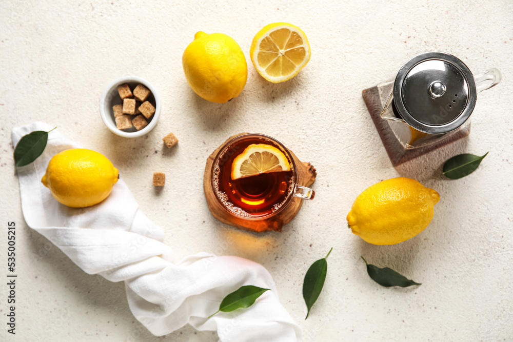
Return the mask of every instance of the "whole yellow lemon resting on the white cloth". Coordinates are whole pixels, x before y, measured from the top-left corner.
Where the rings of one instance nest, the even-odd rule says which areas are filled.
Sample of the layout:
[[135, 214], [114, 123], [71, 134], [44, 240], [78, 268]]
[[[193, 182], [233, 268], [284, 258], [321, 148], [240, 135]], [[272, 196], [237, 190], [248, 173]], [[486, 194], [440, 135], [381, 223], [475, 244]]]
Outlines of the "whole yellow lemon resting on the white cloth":
[[41, 182], [58, 202], [83, 208], [107, 198], [118, 178], [119, 171], [103, 154], [71, 149], [50, 159]]

